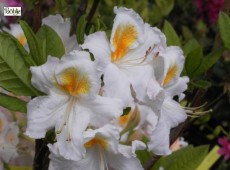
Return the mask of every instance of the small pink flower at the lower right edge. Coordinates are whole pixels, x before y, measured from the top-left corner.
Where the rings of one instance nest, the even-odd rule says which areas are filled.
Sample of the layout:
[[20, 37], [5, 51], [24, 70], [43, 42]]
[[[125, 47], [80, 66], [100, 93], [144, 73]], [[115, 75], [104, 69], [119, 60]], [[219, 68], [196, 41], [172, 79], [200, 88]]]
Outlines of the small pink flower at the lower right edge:
[[218, 150], [218, 154], [224, 156], [224, 160], [228, 160], [230, 158], [230, 141], [227, 137], [219, 138], [218, 143], [222, 146]]

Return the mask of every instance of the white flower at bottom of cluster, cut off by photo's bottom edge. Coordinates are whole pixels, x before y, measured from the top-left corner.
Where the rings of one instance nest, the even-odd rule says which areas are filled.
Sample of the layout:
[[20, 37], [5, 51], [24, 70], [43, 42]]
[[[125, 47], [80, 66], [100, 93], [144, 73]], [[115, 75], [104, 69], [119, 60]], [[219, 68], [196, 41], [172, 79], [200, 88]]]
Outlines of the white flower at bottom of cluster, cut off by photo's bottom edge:
[[[49, 170], [141, 170], [140, 161], [135, 158], [135, 150], [143, 149], [143, 144], [134, 142], [133, 148], [119, 144], [119, 131], [113, 125], [105, 125], [97, 130], [84, 133], [86, 156], [80, 161], [63, 159], [57, 148], [51, 149]], [[50, 148], [55, 148], [51, 146]]]

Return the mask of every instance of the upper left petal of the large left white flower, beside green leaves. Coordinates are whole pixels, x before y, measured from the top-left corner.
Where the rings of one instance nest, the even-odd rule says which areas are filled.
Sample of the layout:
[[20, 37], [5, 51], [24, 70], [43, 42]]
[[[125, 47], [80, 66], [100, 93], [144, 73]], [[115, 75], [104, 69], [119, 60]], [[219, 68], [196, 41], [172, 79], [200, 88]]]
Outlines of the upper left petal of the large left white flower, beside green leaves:
[[45, 64], [38, 67], [31, 67], [31, 82], [33, 86], [36, 87], [38, 90], [49, 94], [50, 89], [52, 89], [52, 87], [54, 86], [54, 70], [58, 63], [58, 58], [49, 56]]

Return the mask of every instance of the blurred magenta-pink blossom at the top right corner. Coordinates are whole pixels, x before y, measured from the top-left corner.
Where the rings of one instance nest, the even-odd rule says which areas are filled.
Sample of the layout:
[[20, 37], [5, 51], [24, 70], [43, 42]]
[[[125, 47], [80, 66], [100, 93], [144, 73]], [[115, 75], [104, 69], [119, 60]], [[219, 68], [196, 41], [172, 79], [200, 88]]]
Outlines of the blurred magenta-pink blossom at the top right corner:
[[224, 6], [224, 0], [195, 0], [195, 6], [202, 20], [214, 24]]

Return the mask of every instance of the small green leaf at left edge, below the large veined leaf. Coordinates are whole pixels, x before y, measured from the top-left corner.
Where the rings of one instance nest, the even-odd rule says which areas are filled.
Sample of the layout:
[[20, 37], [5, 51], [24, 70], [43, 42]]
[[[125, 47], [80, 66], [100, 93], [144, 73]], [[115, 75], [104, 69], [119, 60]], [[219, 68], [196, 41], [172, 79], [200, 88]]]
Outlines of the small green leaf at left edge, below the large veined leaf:
[[14, 112], [26, 113], [25, 101], [0, 93], [0, 105]]

